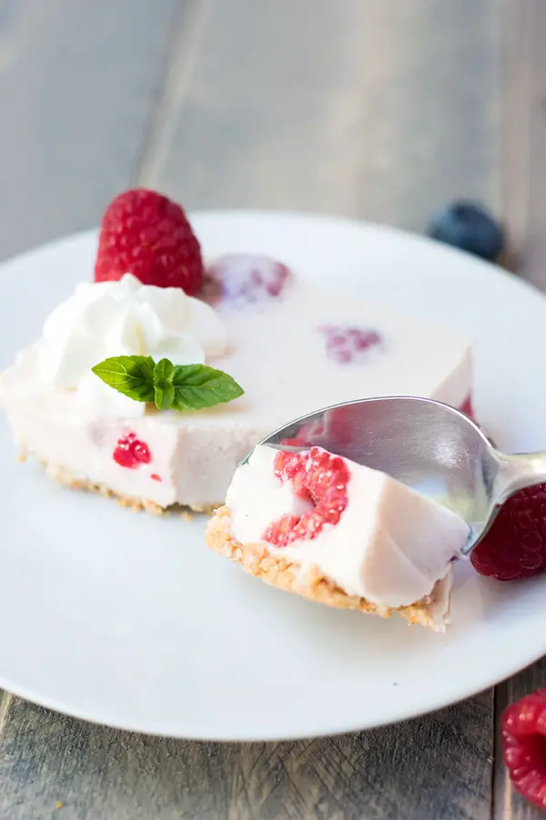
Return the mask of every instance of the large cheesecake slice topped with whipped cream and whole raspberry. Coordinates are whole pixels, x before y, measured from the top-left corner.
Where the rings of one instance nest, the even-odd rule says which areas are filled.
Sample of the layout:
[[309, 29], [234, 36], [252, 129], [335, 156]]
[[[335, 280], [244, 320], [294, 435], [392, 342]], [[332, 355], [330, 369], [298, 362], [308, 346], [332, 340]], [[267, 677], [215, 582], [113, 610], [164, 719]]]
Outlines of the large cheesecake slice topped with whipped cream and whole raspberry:
[[[120, 195], [103, 220], [100, 281], [78, 285], [0, 374], [17, 445], [56, 479], [154, 511], [207, 510], [223, 502], [241, 458], [290, 418], [400, 394], [469, 410], [463, 334], [340, 293], [337, 271], [322, 290], [312, 270], [238, 254], [213, 261], [203, 277], [188, 231], [167, 198]], [[120, 356], [213, 367], [244, 395], [177, 410], [135, 401], [92, 371]]]

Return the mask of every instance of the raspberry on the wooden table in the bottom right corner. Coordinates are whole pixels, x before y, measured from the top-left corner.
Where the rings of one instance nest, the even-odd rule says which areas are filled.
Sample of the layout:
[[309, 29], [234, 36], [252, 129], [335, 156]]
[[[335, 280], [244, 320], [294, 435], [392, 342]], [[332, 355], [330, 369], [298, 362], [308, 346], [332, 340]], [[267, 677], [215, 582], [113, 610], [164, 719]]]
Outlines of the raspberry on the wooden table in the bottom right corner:
[[514, 788], [546, 809], [546, 689], [504, 710], [501, 736], [504, 763]]

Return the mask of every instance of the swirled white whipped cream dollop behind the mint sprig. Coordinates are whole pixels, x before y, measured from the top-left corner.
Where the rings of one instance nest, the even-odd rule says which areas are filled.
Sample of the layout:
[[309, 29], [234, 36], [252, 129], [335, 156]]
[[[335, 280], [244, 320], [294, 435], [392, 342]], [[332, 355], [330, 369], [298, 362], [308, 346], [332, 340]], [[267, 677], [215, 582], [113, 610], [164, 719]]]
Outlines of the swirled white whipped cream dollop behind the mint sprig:
[[224, 325], [205, 302], [126, 273], [118, 282], [79, 284], [45, 320], [38, 356], [46, 383], [76, 390], [101, 414], [136, 416], [146, 405], [104, 384], [92, 372], [95, 364], [122, 355], [205, 364], [226, 345]]

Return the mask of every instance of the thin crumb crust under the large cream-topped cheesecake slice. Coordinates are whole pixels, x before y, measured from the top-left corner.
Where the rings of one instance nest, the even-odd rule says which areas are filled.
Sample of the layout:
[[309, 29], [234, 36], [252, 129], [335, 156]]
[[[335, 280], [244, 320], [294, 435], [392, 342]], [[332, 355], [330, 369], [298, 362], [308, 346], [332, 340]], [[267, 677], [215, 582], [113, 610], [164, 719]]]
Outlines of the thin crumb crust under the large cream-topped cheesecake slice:
[[111, 487], [106, 487], [105, 484], [96, 484], [93, 481], [90, 481], [86, 478], [77, 477], [76, 474], [68, 469], [66, 466], [59, 466], [55, 464], [50, 464], [45, 462], [42, 458], [38, 456], [34, 456], [33, 453], [29, 453], [25, 451], [24, 448], [20, 449], [18, 460], [20, 463], [26, 461], [27, 456], [33, 456], [36, 461], [38, 461], [45, 469], [45, 475], [53, 478], [57, 484], [62, 485], [63, 487], [67, 487], [69, 489], [76, 489], [76, 490], [84, 490], [89, 493], [96, 493], [99, 496], [105, 498], [114, 498], [116, 499], [117, 504], [120, 507], [126, 507], [127, 509], [133, 509], [137, 512], [147, 512], [148, 515], [152, 516], [163, 516], [169, 514], [179, 514], [185, 521], [190, 521], [192, 519], [192, 514], [205, 514], [211, 515], [215, 508], [218, 506], [217, 504], [207, 505], [205, 507], [193, 507], [187, 506], [182, 507], [179, 504], [172, 504], [169, 507], [160, 507], [155, 501], [147, 500], [146, 498], [136, 498], [133, 496], [124, 496], [119, 493], [116, 493]]

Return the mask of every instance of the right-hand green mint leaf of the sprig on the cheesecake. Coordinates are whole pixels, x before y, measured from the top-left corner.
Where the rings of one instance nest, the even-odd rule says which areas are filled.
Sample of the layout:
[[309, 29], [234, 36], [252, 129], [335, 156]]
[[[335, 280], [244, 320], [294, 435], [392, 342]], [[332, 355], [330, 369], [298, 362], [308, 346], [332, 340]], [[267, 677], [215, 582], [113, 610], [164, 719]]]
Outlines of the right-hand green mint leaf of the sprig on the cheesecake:
[[172, 409], [203, 410], [232, 402], [244, 390], [235, 379], [207, 364], [178, 364], [173, 375], [175, 398]]

